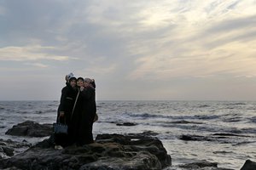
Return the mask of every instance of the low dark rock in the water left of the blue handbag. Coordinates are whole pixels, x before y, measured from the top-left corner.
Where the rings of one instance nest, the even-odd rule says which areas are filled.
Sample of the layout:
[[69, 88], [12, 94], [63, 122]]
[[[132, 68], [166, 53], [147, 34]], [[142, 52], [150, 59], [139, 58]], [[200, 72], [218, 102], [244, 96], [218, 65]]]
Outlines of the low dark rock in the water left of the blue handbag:
[[52, 133], [52, 124], [39, 124], [26, 121], [9, 129], [5, 134], [15, 136], [45, 137]]

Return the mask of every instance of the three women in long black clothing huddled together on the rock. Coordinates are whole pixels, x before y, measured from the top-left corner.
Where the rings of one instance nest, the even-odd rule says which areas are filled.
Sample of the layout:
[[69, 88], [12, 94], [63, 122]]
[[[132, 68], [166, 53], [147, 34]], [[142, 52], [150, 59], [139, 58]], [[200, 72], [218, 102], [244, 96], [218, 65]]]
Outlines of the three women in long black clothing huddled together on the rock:
[[66, 87], [61, 90], [57, 122], [67, 125], [67, 135], [57, 136], [55, 144], [66, 147], [93, 143], [92, 126], [96, 121], [96, 83], [94, 79], [65, 77]]

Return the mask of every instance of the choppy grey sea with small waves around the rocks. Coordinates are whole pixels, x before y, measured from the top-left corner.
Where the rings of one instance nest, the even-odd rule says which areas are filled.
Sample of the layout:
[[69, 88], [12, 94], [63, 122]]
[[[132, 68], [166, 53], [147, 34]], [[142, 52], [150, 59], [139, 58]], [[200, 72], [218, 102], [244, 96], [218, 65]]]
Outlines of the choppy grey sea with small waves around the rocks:
[[[35, 144], [44, 138], [15, 137], [5, 132], [31, 120], [53, 123], [59, 101], [0, 101], [0, 139]], [[256, 101], [97, 101], [99, 120], [93, 134], [154, 132], [172, 165], [194, 161], [218, 162], [240, 169], [256, 161]], [[132, 122], [135, 126], [117, 126]], [[182, 136], [197, 137], [183, 140]]]

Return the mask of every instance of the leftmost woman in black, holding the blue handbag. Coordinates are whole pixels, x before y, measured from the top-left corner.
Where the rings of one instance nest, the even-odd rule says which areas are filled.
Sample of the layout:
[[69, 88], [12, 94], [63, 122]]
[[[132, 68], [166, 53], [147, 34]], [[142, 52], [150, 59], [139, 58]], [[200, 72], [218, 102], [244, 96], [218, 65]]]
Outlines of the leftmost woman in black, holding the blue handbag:
[[67, 124], [67, 136], [56, 136], [55, 144], [60, 144], [65, 147], [73, 143], [73, 131], [72, 131], [72, 115], [75, 106], [75, 100], [79, 93], [76, 87], [77, 79], [75, 77], [70, 77], [67, 82], [67, 86], [61, 90], [61, 103], [58, 108], [57, 122]]

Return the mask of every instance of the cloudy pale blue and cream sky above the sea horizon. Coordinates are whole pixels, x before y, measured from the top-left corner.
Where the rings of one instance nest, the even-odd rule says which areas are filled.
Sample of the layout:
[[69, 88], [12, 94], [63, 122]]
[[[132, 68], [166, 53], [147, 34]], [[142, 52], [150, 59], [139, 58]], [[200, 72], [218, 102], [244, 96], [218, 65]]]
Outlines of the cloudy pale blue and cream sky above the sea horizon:
[[256, 100], [255, 0], [1, 0], [0, 100]]

